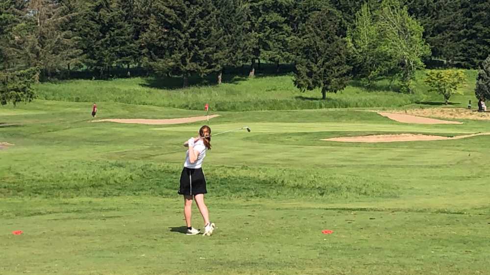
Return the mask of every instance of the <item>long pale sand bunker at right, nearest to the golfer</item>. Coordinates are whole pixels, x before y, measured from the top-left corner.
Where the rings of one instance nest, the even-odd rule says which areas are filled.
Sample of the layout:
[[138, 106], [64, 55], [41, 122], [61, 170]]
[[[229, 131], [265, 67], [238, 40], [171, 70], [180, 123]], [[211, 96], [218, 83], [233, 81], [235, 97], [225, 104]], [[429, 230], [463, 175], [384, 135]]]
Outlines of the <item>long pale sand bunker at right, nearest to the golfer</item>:
[[478, 133], [478, 134], [463, 135], [463, 136], [456, 136], [456, 137], [397, 134], [397, 135], [372, 135], [372, 136], [358, 136], [358, 137], [325, 138], [322, 140], [341, 141], [341, 142], [397, 142], [397, 141], [452, 140], [452, 139], [471, 138], [476, 136], [488, 136], [488, 135], [490, 135], [490, 133]]

